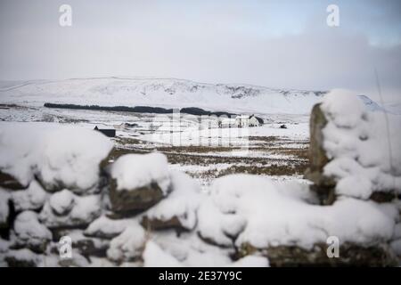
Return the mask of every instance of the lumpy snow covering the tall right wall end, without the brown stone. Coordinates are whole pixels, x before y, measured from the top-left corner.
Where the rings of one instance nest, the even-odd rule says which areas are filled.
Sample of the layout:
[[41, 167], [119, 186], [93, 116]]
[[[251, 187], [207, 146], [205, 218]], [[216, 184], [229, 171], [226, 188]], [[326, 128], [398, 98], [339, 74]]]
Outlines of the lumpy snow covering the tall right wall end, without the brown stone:
[[341, 195], [367, 199], [372, 191], [401, 192], [401, 117], [369, 111], [345, 90], [324, 97], [323, 148], [331, 159], [324, 175], [337, 181]]

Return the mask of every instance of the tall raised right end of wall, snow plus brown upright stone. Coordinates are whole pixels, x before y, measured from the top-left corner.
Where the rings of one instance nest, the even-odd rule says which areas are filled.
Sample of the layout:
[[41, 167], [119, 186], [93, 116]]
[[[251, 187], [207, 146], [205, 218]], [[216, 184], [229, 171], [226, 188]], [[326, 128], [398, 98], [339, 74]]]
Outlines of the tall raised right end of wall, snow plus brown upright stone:
[[[311, 116], [311, 167], [316, 190], [335, 197], [389, 201], [401, 194], [401, 116], [371, 111], [354, 94], [335, 90]], [[332, 193], [330, 193], [332, 191]]]

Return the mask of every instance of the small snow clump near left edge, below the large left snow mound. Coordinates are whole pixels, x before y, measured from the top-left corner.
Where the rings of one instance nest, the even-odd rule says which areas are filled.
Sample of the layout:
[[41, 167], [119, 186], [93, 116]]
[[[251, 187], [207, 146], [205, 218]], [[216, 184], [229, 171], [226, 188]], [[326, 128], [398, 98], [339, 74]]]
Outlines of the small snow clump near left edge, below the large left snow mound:
[[46, 192], [33, 180], [26, 190], [12, 191], [11, 199], [17, 212], [36, 210], [45, 204]]

